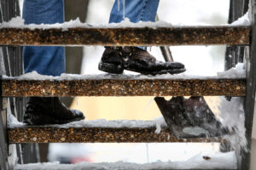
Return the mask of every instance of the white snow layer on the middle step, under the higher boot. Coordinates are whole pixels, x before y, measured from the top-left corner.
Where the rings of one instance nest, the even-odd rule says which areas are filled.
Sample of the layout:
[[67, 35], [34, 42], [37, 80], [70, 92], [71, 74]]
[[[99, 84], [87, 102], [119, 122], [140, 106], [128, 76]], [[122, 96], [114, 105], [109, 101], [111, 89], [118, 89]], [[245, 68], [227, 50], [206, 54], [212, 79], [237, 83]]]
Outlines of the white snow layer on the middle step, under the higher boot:
[[32, 71], [21, 75], [20, 77], [7, 77], [3, 76], [3, 79], [16, 78], [17, 80], [102, 80], [102, 79], [126, 79], [126, 80], [140, 80], [140, 79], [172, 79], [172, 80], [186, 80], [186, 79], [219, 79], [219, 78], [245, 78], [246, 71], [243, 63], [238, 63], [236, 68], [231, 68], [229, 71], [218, 72], [215, 77], [206, 77], [191, 75], [189, 72], [183, 72], [177, 75], [164, 74], [156, 76], [145, 76], [145, 75], [115, 75], [115, 74], [99, 74], [99, 75], [76, 75], [76, 74], [61, 74], [60, 77], [44, 76], [38, 74], [37, 71]]

